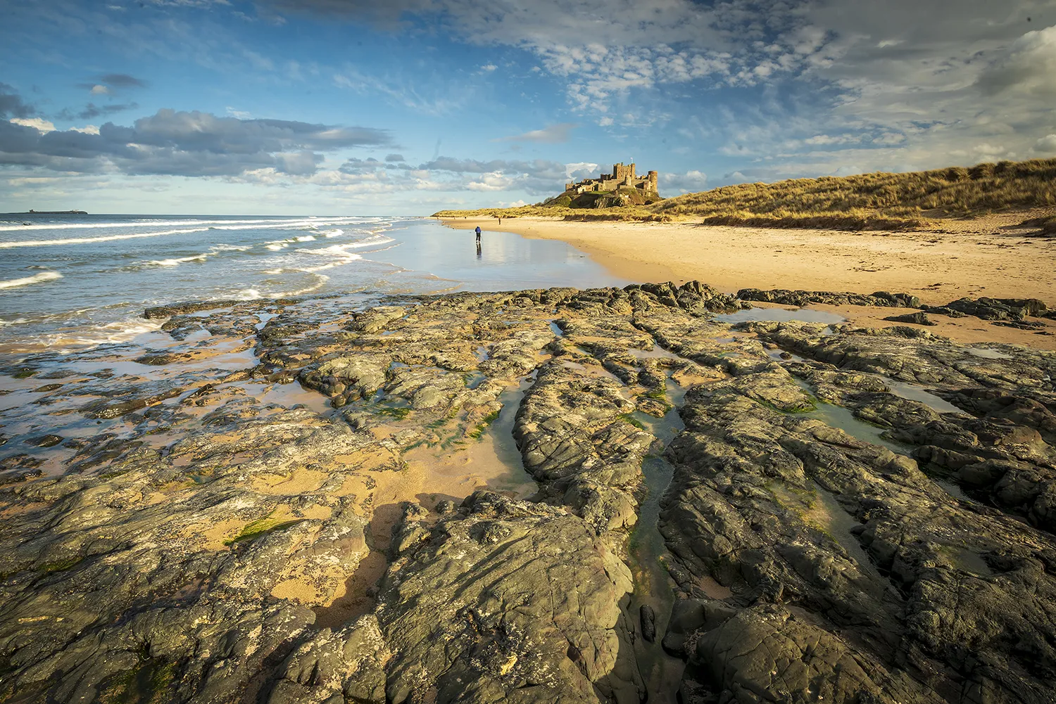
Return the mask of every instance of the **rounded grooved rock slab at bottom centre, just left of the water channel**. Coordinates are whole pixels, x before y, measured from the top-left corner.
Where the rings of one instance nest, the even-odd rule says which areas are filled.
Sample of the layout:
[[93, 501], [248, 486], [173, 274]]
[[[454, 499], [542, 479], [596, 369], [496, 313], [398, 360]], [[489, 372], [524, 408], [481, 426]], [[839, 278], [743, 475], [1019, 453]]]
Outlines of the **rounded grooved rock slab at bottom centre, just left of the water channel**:
[[[388, 701], [596, 702], [638, 690], [615, 629], [630, 572], [590, 527], [486, 492], [465, 508], [422, 526], [382, 584]], [[482, 529], [495, 539], [479, 539]]]

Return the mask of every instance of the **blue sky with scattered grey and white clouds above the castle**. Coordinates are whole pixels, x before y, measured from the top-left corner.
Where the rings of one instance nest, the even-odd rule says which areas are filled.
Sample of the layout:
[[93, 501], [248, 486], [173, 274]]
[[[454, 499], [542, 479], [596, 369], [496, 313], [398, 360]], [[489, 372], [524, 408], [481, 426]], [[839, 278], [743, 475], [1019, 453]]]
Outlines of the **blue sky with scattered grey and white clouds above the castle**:
[[0, 211], [429, 214], [1056, 156], [1056, 0], [4, 0]]

